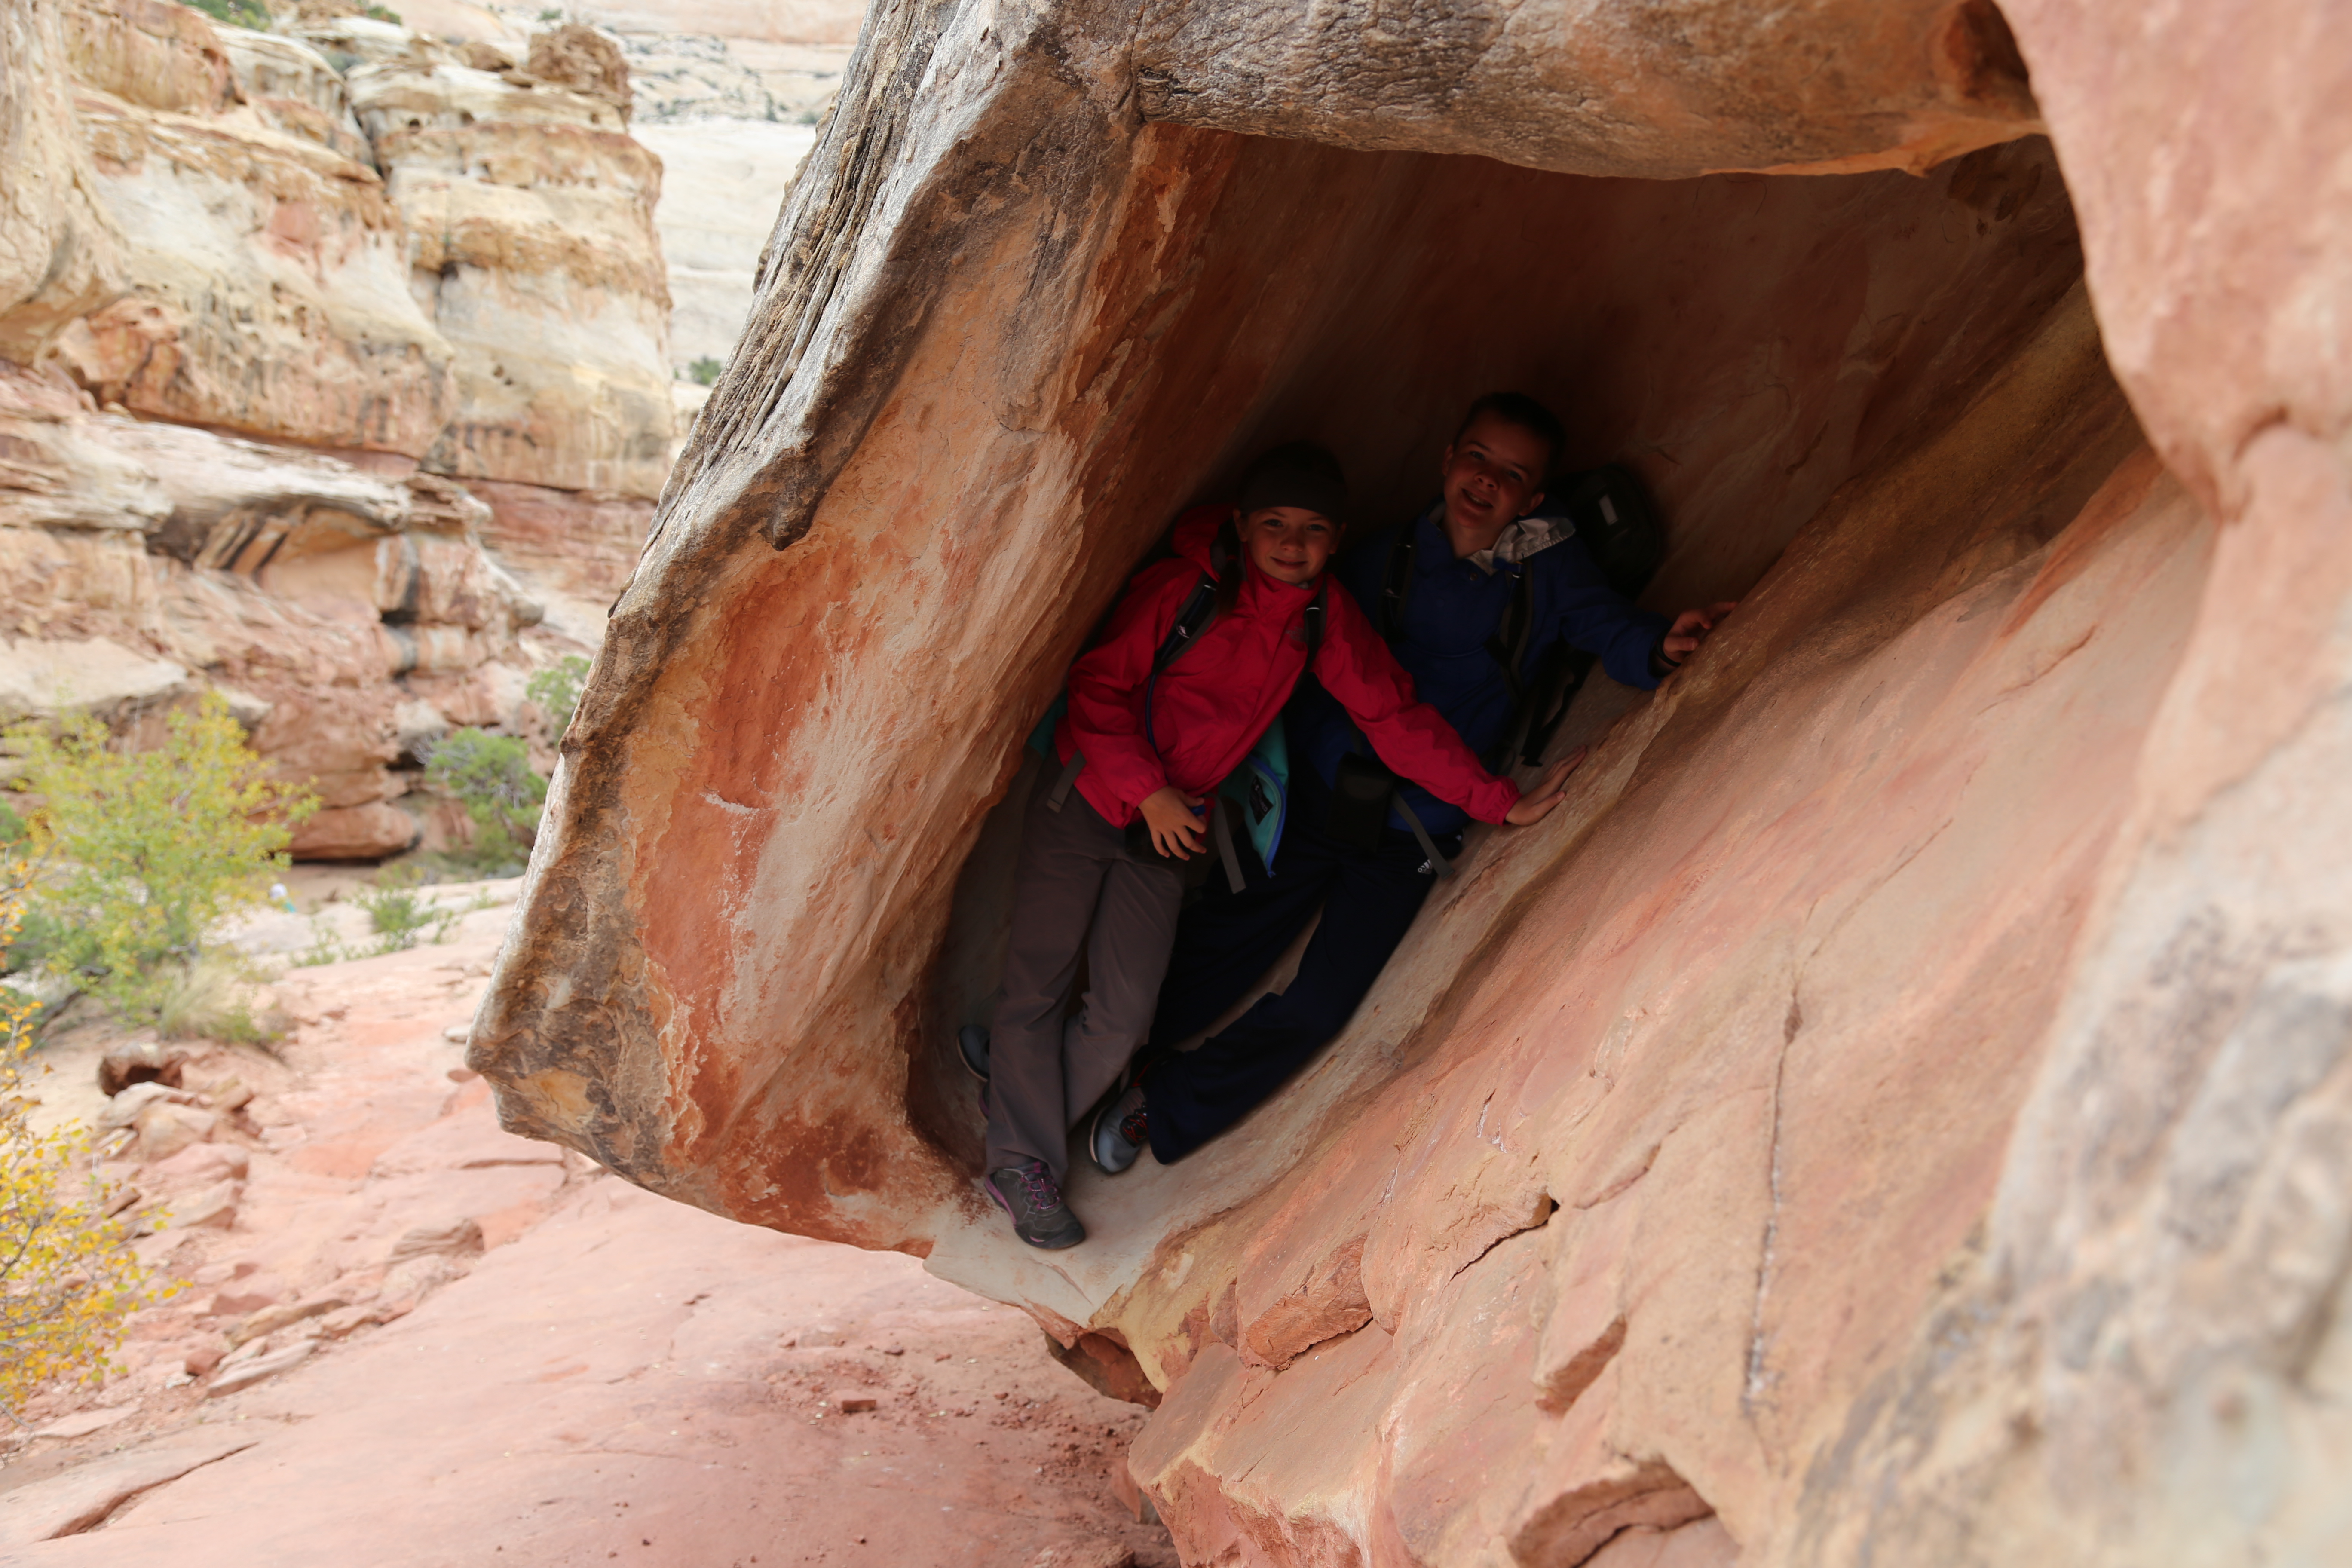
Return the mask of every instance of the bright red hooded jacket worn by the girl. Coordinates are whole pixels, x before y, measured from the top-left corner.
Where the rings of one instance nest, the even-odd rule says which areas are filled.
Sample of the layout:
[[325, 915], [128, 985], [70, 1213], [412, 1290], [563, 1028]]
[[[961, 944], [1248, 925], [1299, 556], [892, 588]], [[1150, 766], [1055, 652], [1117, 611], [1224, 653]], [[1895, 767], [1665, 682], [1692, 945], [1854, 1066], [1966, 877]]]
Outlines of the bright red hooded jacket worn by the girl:
[[[1054, 752], [1087, 759], [1077, 790], [1112, 827], [1162, 785], [1209, 795], [1282, 712], [1308, 665], [1305, 614], [1315, 585], [1296, 588], [1249, 564], [1235, 607], [1218, 614], [1192, 646], [1152, 682], [1152, 656], [1176, 625], [1176, 611], [1209, 571], [1209, 550], [1230, 505], [1197, 505], [1176, 520], [1176, 559], [1143, 569], [1103, 639], [1070, 665], [1070, 710], [1054, 729]], [[1406, 675], [1371, 621], [1334, 585], [1324, 597], [1324, 637], [1315, 679], [1338, 698], [1371, 748], [1397, 773], [1470, 816], [1501, 823], [1519, 804], [1519, 785], [1496, 778], [1435, 708], [1414, 698]], [[1152, 686], [1152, 738], [1143, 733], [1143, 696]]]

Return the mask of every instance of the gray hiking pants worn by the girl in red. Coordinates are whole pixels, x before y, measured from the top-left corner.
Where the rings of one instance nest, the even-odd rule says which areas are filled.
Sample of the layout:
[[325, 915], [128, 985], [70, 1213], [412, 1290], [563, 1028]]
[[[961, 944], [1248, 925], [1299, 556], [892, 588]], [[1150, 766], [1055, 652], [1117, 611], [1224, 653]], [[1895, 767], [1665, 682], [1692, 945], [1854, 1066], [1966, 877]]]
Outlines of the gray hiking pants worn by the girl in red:
[[[1077, 790], [1051, 811], [1051, 788], [1047, 771], [1021, 823], [1011, 950], [988, 1034], [988, 1168], [1042, 1159], [1061, 1182], [1070, 1128], [1150, 1034], [1183, 879], [1134, 860]], [[1080, 952], [1087, 997], [1063, 1023]]]

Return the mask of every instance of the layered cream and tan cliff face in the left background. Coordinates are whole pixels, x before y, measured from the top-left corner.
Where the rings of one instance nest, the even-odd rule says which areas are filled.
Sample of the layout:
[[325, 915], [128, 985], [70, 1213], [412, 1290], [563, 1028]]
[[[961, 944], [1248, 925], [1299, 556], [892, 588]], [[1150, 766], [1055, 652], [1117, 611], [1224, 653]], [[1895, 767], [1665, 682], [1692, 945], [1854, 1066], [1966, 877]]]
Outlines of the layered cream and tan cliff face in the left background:
[[522, 637], [619, 585], [668, 473], [619, 49], [569, 28], [477, 71], [362, 16], [5, 16], [5, 150], [40, 172], [0, 223], [12, 705], [226, 686], [325, 797], [296, 853], [405, 849], [400, 764], [593, 646], [588, 607]]

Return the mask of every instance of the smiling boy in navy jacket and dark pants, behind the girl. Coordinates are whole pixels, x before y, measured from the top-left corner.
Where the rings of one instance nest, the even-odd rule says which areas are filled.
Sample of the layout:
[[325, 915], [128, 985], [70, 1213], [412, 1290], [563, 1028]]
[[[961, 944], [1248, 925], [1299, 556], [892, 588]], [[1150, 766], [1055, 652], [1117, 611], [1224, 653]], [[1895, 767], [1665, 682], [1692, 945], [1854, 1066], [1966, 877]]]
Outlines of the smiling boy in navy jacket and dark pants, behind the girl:
[[[1733, 609], [1710, 604], [1668, 621], [1609, 588], [1564, 520], [1541, 512], [1564, 442], [1559, 421], [1534, 397], [1479, 397], [1444, 451], [1439, 501], [1404, 524], [1414, 531], [1404, 581], [1390, 581], [1397, 529], [1334, 569], [1381, 625], [1416, 696], [1479, 755], [1510, 738], [1517, 686], [1555, 642], [1599, 656], [1628, 686], [1653, 689]], [[1498, 632], [1519, 574], [1529, 574], [1534, 625], [1512, 679]], [[1294, 797], [1277, 870], [1183, 914], [1152, 1023], [1160, 1058], [1103, 1107], [1089, 1135], [1103, 1171], [1124, 1171], [1145, 1145], [1174, 1164], [1272, 1095], [1371, 990], [1430, 893], [1432, 856], [1461, 853], [1470, 818], [1411, 783], [1397, 785], [1376, 844], [1336, 837], [1331, 792], [1343, 759], [1369, 748], [1312, 679], [1301, 682], [1284, 724]], [[1282, 994], [1261, 997], [1197, 1051], [1169, 1053], [1240, 1001], [1317, 910], [1322, 924]]]

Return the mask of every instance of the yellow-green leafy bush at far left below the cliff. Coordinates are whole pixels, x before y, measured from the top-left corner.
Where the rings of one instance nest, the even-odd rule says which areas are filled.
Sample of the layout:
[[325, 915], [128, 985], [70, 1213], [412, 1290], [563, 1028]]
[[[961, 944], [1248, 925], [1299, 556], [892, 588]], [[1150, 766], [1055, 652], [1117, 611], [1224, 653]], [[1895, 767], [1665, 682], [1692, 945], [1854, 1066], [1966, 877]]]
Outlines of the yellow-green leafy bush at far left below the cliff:
[[318, 795], [270, 776], [219, 691], [169, 715], [153, 752], [115, 750], [82, 712], [54, 731], [21, 724], [12, 738], [47, 865], [33, 891], [42, 966], [151, 1023], [205, 933], [266, 898]]

